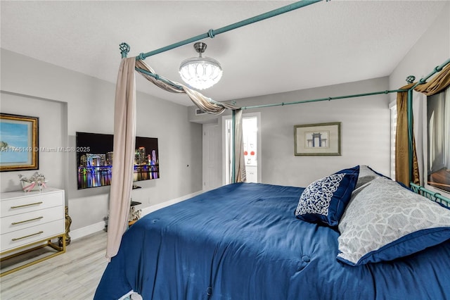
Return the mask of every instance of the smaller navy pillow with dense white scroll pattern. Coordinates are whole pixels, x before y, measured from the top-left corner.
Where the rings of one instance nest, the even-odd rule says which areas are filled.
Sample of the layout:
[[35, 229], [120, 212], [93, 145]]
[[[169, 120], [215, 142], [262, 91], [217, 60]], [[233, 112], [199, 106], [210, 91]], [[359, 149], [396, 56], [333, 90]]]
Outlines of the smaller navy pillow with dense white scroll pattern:
[[359, 165], [340, 170], [308, 185], [298, 202], [295, 216], [311, 223], [337, 226], [358, 181]]

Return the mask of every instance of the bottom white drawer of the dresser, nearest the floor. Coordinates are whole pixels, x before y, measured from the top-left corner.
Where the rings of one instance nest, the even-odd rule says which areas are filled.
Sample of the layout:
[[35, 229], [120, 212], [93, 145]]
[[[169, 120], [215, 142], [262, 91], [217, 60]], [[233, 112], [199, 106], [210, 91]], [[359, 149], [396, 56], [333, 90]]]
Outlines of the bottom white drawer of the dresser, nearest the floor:
[[64, 220], [61, 219], [5, 233], [1, 235], [1, 252], [61, 235], [65, 232], [64, 226]]

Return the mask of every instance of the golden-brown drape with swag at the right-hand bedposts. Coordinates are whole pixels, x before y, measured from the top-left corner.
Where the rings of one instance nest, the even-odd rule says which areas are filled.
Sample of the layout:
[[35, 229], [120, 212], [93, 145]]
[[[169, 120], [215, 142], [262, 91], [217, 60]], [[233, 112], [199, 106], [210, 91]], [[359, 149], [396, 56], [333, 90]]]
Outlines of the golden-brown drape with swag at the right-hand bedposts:
[[[416, 83], [401, 87], [411, 89]], [[427, 96], [437, 94], [450, 85], [450, 65], [446, 65], [432, 80], [414, 88]], [[409, 143], [408, 143], [408, 116], [407, 116], [408, 92], [397, 93], [397, 133], [395, 139], [395, 180], [409, 187]], [[416, 155], [416, 142], [413, 134], [413, 172], [411, 181], [420, 184], [420, 175]]]

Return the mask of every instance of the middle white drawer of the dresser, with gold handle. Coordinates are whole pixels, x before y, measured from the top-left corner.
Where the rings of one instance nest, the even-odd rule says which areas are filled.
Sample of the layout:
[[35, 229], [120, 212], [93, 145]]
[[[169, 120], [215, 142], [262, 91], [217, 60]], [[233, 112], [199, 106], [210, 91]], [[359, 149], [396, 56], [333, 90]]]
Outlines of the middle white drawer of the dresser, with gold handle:
[[64, 218], [64, 206], [55, 206], [30, 213], [19, 213], [1, 218], [1, 234], [37, 226]]

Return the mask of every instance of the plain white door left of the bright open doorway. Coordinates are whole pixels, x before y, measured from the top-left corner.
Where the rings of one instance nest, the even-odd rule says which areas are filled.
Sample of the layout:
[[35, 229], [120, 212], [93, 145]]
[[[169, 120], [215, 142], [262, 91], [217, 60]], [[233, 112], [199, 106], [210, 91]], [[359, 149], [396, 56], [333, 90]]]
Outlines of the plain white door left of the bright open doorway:
[[221, 186], [221, 136], [219, 125], [203, 124], [203, 190]]

